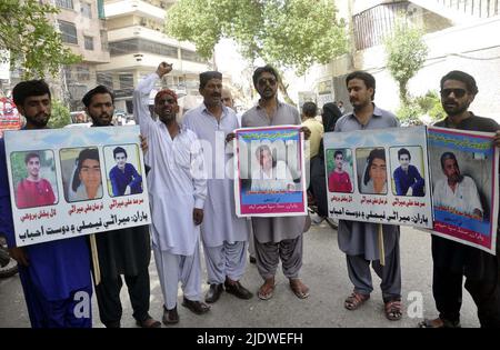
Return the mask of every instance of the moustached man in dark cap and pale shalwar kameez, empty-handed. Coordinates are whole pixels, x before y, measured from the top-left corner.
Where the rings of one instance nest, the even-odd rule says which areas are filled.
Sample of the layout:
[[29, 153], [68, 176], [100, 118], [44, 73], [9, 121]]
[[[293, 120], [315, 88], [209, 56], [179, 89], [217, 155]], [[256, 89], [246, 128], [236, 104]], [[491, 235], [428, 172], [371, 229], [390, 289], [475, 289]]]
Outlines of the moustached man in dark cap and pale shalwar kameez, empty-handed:
[[[238, 118], [232, 109], [222, 104], [220, 72], [200, 74], [200, 93], [203, 103], [188, 111], [182, 122], [204, 142], [204, 163], [211, 164], [201, 224], [210, 284], [204, 300], [216, 302], [224, 287], [228, 293], [250, 299], [252, 293], [240, 283], [247, 266], [248, 229], [246, 219], [236, 216], [231, 154], [226, 152], [224, 141], [228, 133], [238, 129]], [[228, 164], [230, 169], [226, 169]]]

